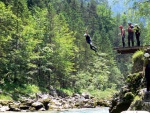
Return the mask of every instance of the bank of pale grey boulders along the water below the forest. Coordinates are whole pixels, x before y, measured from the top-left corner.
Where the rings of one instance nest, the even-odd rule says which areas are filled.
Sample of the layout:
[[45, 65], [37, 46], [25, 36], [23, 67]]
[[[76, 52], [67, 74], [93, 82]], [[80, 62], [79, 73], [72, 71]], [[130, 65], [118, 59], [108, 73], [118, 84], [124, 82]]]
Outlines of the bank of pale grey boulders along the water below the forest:
[[19, 101], [0, 100], [0, 111], [62, 111], [64, 109], [96, 108], [109, 106], [108, 101], [98, 101], [88, 94], [74, 94], [67, 97], [50, 94], [35, 94], [35, 98], [21, 97]]

